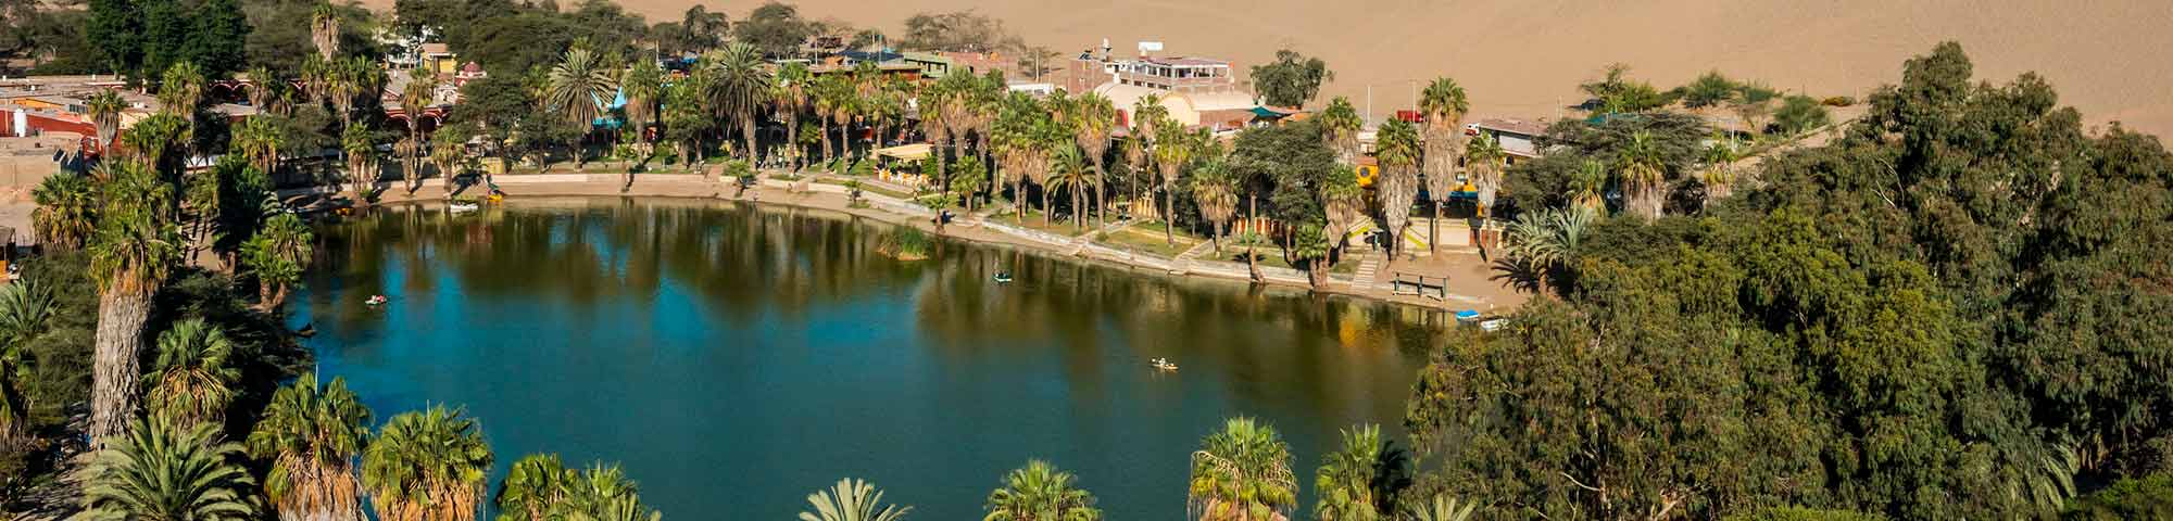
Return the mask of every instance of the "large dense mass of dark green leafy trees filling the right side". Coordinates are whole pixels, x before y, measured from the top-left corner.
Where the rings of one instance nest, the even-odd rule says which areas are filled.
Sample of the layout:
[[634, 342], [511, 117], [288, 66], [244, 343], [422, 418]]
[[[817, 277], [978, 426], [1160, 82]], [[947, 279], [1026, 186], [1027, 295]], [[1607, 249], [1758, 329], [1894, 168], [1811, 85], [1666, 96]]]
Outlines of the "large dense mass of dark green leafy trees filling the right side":
[[[1695, 165], [1632, 124], [1560, 132], [1565, 158], [1632, 150], [1617, 169], [1665, 182]], [[2058, 514], [2162, 469], [2173, 395], [2132, 369], [2166, 352], [2147, 317], [2173, 300], [2114, 280], [2166, 278], [2143, 260], [2166, 171], [2156, 139], [2086, 135], [2040, 78], [1977, 82], [1943, 43], [1832, 145], [1769, 156], [1706, 211], [1575, 226], [1549, 217], [1569, 198], [1519, 193], [1536, 217], [1510, 258], [1543, 267], [1512, 280], [1558, 300], [1434, 354], [1406, 417], [1443, 462], [1421, 488], [1508, 517]]]

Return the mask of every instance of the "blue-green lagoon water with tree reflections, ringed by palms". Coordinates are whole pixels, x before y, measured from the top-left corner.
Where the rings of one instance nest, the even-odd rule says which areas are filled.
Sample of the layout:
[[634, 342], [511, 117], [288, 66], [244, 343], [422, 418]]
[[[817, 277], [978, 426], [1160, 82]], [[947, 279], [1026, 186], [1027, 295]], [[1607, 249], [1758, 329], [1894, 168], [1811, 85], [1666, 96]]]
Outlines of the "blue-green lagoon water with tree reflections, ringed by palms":
[[980, 519], [1028, 458], [1076, 473], [1106, 519], [1176, 519], [1189, 454], [1234, 415], [1284, 434], [1310, 508], [1339, 428], [1402, 436], [1447, 321], [1015, 247], [900, 263], [876, 252], [884, 228], [669, 200], [387, 208], [324, 230], [293, 321], [380, 421], [478, 417], [493, 491], [522, 454], [558, 452], [624, 465], [667, 519], [791, 519], [845, 475], [908, 519]]

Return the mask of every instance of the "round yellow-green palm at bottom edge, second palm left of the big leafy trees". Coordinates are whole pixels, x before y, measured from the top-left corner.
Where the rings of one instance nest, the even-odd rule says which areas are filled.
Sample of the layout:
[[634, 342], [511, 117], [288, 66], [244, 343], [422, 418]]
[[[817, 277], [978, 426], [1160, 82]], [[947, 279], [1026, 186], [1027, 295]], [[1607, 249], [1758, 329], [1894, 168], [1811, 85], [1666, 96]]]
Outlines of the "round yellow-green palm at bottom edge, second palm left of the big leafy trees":
[[1291, 519], [1297, 504], [1297, 478], [1291, 473], [1291, 445], [1276, 428], [1249, 417], [1223, 423], [1193, 452], [1189, 512], [1202, 521], [1269, 521]]

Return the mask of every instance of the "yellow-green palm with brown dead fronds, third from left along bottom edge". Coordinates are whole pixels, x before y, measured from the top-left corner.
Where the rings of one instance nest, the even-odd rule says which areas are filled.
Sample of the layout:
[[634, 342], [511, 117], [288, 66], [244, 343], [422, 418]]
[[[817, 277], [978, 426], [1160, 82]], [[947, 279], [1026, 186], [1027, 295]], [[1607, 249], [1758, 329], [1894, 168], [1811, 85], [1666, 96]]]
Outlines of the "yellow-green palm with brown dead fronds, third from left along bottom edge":
[[387, 521], [476, 521], [491, 447], [461, 410], [402, 412], [363, 449], [363, 488]]

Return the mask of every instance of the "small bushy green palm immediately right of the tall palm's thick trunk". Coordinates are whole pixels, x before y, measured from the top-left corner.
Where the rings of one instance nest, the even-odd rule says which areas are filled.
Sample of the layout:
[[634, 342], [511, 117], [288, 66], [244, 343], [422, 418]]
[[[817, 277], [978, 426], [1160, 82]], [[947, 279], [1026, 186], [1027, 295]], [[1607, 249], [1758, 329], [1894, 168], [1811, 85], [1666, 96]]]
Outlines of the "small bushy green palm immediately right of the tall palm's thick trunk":
[[204, 319], [174, 321], [159, 334], [159, 363], [143, 402], [176, 425], [222, 423], [241, 371], [228, 363], [235, 343]]

